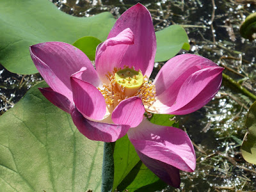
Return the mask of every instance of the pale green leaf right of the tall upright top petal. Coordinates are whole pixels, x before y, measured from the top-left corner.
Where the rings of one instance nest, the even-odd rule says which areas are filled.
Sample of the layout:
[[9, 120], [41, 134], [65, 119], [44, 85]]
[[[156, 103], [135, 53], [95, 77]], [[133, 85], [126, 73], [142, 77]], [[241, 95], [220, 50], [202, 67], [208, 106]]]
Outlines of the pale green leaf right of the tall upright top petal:
[[155, 61], [167, 61], [180, 49], [189, 50], [188, 35], [184, 28], [172, 25], [156, 32], [157, 50]]

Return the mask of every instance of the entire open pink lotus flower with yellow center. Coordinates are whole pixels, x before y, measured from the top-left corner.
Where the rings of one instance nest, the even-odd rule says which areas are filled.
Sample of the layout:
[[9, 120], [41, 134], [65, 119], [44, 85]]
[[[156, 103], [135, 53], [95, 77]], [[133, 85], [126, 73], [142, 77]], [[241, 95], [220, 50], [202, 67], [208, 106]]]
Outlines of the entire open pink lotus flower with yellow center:
[[151, 124], [144, 114], [184, 115], [202, 108], [218, 92], [223, 68], [182, 54], [167, 61], [154, 83], [148, 81], [156, 35], [145, 6], [132, 6], [116, 21], [97, 47], [96, 70], [82, 51], [62, 42], [33, 45], [30, 52], [50, 86], [40, 91], [70, 113], [84, 136], [113, 142], [128, 134], [141, 161], [176, 188], [179, 170], [195, 170], [195, 151], [186, 132]]

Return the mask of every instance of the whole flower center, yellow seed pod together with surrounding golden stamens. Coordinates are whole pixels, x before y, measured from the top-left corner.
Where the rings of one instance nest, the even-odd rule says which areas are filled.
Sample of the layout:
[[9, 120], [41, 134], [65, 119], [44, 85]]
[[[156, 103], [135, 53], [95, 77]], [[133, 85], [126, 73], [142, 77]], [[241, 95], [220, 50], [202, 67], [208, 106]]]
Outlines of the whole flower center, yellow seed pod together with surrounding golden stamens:
[[[113, 109], [124, 99], [129, 97], [140, 97], [144, 106], [149, 108], [155, 100], [156, 88], [147, 76], [142, 75], [141, 70], [136, 71], [134, 68], [125, 66], [114, 68], [113, 72], [106, 75], [110, 83], [103, 84], [98, 88], [105, 98], [108, 110], [111, 113]], [[147, 111], [147, 108], [145, 110]]]

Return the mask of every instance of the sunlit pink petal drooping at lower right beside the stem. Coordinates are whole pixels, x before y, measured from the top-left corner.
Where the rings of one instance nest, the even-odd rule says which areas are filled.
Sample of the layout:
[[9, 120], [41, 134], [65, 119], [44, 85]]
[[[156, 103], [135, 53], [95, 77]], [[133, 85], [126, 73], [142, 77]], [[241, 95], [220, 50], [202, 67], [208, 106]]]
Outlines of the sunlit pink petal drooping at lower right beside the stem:
[[179, 170], [195, 170], [195, 150], [188, 135], [181, 129], [151, 124], [145, 119], [127, 134], [137, 152]]

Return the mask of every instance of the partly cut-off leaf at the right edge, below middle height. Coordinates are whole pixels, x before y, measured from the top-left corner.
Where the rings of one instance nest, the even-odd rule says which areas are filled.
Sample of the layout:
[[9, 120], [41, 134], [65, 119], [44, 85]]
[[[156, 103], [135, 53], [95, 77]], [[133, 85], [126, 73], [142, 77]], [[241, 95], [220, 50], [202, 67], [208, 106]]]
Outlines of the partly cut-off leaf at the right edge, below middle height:
[[242, 155], [249, 163], [256, 164], [256, 101], [252, 104], [246, 117], [248, 132], [241, 147]]

